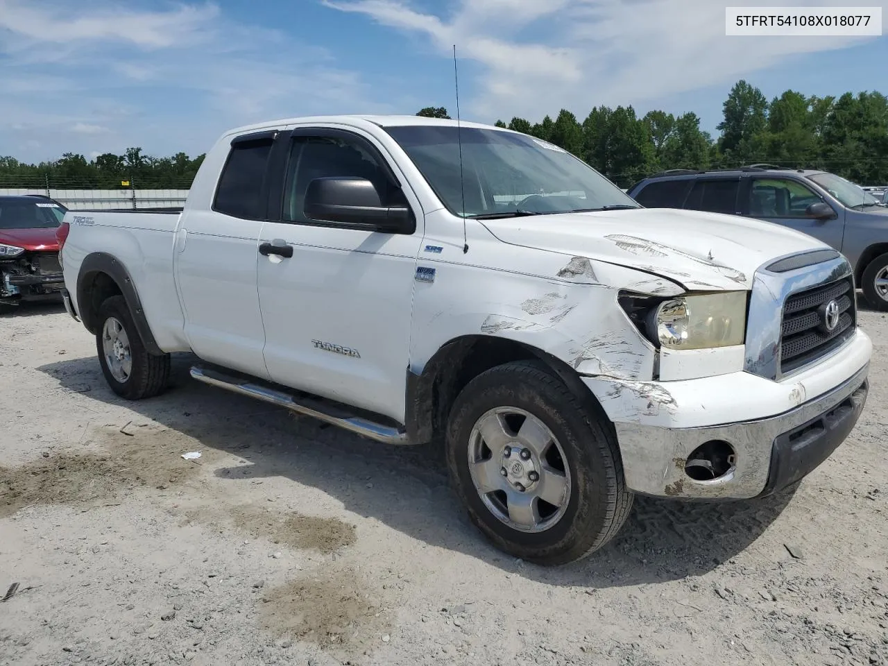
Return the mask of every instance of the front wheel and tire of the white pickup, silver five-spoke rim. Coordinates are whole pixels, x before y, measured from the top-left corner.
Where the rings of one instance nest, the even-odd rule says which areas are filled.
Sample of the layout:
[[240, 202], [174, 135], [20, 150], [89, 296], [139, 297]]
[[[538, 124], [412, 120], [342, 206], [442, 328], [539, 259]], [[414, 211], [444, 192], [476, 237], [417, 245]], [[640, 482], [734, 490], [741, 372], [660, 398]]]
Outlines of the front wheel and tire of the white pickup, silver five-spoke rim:
[[[629, 516], [632, 494], [625, 487], [613, 429], [597, 405], [584, 402], [540, 361], [489, 369], [456, 397], [446, 444], [450, 480], [469, 519], [500, 550], [536, 564], [566, 564], [601, 548]], [[496, 421], [489, 420], [491, 415]], [[505, 440], [519, 446], [517, 456], [514, 448], [500, 448], [503, 453], [497, 458], [496, 440], [503, 435], [480, 434], [496, 434], [496, 425], [502, 424]], [[527, 433], [521, 431], [525, 424]], [[484, 443], [479, 446], [479, 441]], [[522, 462], [523, 445], [531, 441], [548, 443], [536, 445]], [[543, 456], [538, 455], [540, 448], [545, 448]], [[550, 485], [550, 480], [555, 482]], [[530, 485], [522, 494], [514, 482]], [[496, 490], [482, 493], [479, 488]], [[511, 511], [516, 511], [518, 522], [503, 519], [511, 520]], [[531, 527], [537, 517], [540, 521]]]

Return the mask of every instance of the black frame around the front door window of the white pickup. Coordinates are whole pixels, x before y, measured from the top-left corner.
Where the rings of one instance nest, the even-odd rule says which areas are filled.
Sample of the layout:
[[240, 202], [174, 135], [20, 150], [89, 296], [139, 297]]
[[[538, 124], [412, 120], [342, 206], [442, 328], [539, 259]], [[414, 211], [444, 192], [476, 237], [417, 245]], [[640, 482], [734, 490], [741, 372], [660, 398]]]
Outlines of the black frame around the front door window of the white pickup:
[[[321, 226], [325, 228], [334, 228], [334, 229], [350, 229], [352, 231], [375, 231], [372, 225], [367, 225], [366, 228], [364, 226], [357, 226], [353, 224], [343, 224], [339, 222], [325, 222], [322, 220], [313, 220], [306, 219], [297, 220], [297, 219], [284, 219], [283, 218], [283, 202], [284, 202], [284, 194], [287, 186], [287, 176], [289, 174], [290, 167], [290, 157], [293, 155], [293, 141], [298, 137], [316, 137], [319, 139], [344, 139], [347, 141], [353, 141], [357, 143], [361, 148], [366, 150], [369, 155], [371, 155], [374, 159], [379, 163], [380, 168], [383, 170], [385, 177], [389, 178], [392, 182], [393, 186], [399, 187], [404, 195], [404, 200], [407, 202], [408, 210], [410, 210], [410, 216], [413, 218], [413, 231], [404, 231], [400, 233], [392, 233], [392, 232], [377, 232], [377, 233], [385, 233], [388, 235], [412, 235], [416, 233], [416, 210], [414, 205], [410, 203], [407, 192], [405, 191], [405, 187], [401, 184], [400, 178], [395, 174], [392, 169], [392, 165], [389, 163], [387, 159], [385, 159], [385, 155], [382, 154], [372, 141], [367, 139], [366, 137], [361, 136], [361, 134], [343, 130], [338, 127], [306, 127], [300, 126], [295, 127], [289, 131], [282, 132], [281, 136], [278, 137], [278, 143], [281, 146], [285, 147], [279, 151], [274, 151], [272, 159], [269, 160], [269, 168], [274, 169], [274, 176], [269, 178], [273, 182], [274, 189], [269, 188], [268, 191], [268, 210], [266, 212], [266, 218], [270, 222], [276, 222], [282, 225], [297, 225], [297, 226]], [[283, 139], [283, 140], [281, 140]]]

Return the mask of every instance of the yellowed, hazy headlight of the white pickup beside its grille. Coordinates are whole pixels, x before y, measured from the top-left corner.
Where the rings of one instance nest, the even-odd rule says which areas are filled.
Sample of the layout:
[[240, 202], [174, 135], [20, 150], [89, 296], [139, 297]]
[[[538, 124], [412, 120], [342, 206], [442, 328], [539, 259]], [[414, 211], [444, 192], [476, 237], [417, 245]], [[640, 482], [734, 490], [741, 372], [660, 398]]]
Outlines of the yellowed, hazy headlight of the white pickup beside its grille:
[[746, 291], [690, 294], [654, 308], [648, 329], [669, 349], [710, 349], [742, 345], [746, 331]]

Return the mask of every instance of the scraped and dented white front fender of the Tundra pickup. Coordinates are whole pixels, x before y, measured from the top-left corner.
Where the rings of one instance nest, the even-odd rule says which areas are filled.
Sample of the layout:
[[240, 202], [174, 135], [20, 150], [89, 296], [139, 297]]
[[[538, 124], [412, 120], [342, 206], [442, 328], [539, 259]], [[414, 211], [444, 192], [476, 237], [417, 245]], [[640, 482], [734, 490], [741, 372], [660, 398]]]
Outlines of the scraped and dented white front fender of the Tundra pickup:
[[[480, 242], [472, 245], [479, 264], [481, 250]], [[617, 296], [621, 289], [670, 296], [684, 290], [680, 285], [588, 258], [514, 246], [510, 253], [527, 253], [537, 275], [454, 263], [438, 265], [437, 281], [417, 283], [412, 371], [421, 371], [449, 341], [482, 335], [534, 347], [581, 375], [651, 380], [654, 346], [623, 312]], [[512, 266], [522, 266], [520, 257], [511, 259]]]

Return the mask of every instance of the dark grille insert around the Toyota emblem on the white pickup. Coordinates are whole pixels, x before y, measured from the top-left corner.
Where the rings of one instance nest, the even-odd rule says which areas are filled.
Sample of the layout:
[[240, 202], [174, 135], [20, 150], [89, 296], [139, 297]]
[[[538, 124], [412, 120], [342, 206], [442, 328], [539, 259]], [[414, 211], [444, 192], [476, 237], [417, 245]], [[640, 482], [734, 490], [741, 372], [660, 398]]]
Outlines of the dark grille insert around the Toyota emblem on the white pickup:
[[[838, 323], [827, 329], [826, 309], [838, 306]], [[851, 277], [799, 291], [786, 299], [781, 325], [781, 374], [817, 361], [854, 333], [857, 303]]]

